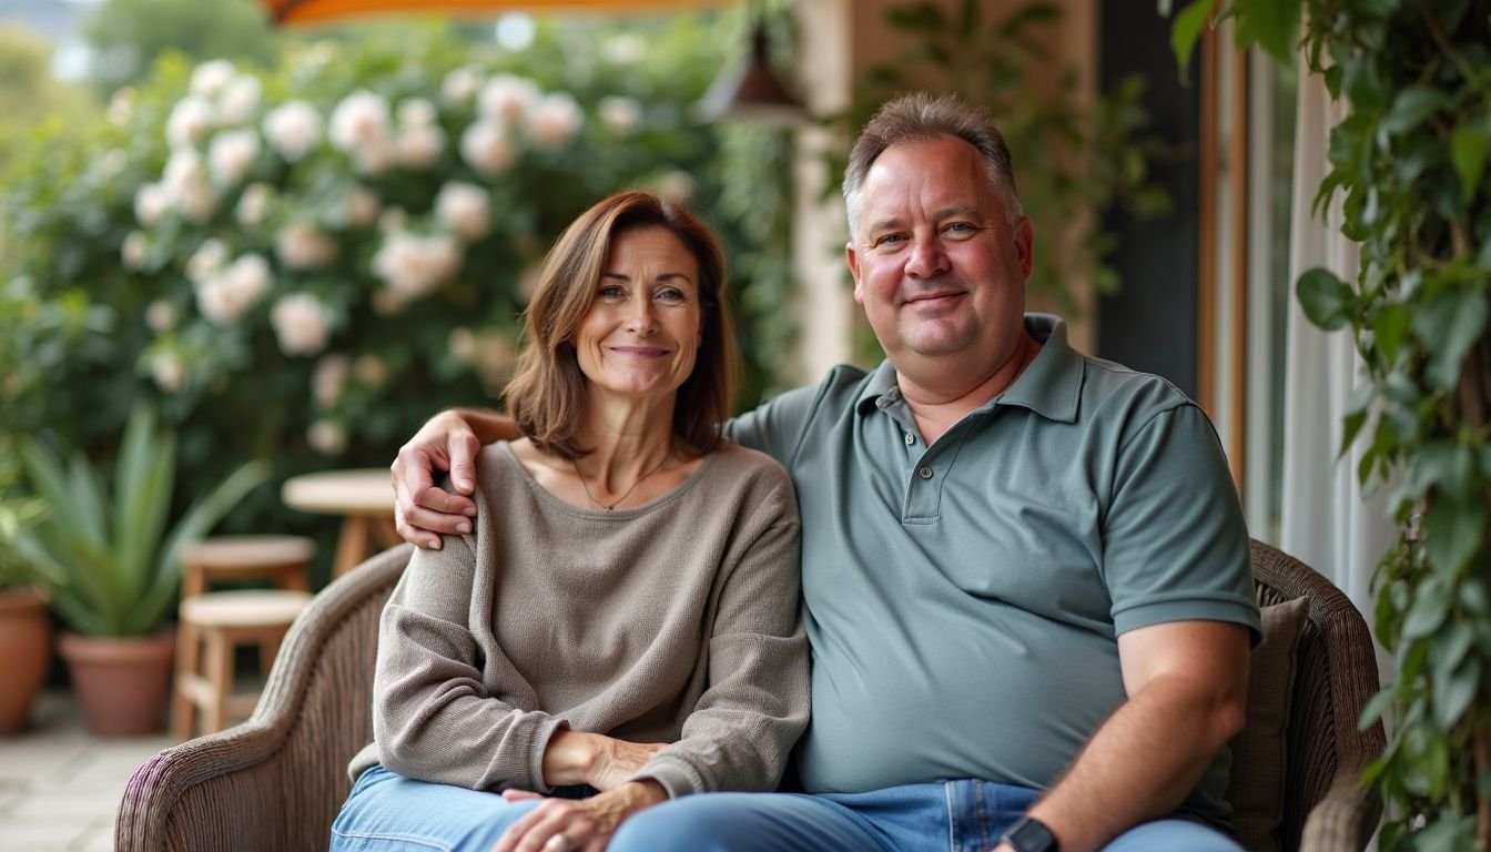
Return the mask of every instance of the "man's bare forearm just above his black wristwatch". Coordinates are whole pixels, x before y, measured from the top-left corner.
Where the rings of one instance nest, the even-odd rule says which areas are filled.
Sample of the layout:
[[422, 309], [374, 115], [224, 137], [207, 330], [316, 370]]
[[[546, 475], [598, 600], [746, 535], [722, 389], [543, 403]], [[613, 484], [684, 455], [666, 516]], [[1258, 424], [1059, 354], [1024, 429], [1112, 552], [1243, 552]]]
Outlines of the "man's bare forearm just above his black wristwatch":
[[1099, 849], [1173, 813], [1242, 715], [1233, 697], [1218, 701], [1181, 677], [1157, 677], [1103, 722], [1029, 813], [1056, 834], [1062, 852]]

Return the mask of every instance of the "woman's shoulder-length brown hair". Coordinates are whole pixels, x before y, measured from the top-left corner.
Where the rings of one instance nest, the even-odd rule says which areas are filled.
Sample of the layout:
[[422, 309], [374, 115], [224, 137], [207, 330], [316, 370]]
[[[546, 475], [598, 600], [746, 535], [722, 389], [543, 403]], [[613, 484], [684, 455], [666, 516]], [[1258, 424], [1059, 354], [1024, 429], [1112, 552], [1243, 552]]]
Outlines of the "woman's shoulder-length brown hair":
[[576, 358], [574, 333], [595, 300], [611, 240], [623, 231], [653, 227], [678, 237], [699, 264], [699, 352], [693, 373], [678, 388], [672, 431], [698, 452], [710, 452], [720, 442], [740, 370], [720, 243], [684, 207], [649, 192], [619, 192], [580, 213], [559, 236], [523, 315], [523, 349], [507, 383], [507, 410], [540, 449], [565, 458], [590, 452], [577, 443], [586, 378]]

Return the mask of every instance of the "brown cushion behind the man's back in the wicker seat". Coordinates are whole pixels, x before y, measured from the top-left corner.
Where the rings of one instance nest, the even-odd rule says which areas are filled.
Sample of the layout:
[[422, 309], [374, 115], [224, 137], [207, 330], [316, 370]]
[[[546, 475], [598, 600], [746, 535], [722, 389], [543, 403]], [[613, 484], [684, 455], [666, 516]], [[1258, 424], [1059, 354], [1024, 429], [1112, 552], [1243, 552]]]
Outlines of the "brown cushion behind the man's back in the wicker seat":
[[1296, 649], [1309, 598], [1263, 607], [1263, 639], [1248, 674], [1248, 724], [1232, 740], [1232, 824], [1249, 852], [1278, 852], [1284, 819], [1285, 731], [1294, 695]]

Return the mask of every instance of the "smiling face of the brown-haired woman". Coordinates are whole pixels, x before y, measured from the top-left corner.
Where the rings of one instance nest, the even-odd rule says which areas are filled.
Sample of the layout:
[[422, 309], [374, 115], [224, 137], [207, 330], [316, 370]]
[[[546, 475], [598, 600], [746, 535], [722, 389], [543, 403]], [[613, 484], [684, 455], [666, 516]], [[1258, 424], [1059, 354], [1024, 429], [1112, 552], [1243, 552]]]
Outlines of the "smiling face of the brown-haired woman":
[[590, 309], [576, 330], [593, 389], [634, 397], [677, 392], [701, 342], [699, 264], [668, 228], [611, 237]]

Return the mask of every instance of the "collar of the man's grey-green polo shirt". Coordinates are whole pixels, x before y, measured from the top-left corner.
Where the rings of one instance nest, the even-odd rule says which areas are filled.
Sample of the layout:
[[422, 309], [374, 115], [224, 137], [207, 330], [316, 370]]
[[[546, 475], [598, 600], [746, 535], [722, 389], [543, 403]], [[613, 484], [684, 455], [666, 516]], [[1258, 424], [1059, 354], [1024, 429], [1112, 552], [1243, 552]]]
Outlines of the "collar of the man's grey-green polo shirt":
[[[1082, 355], [1066, 342], [1066, 322], [1050, 313], [1026, 313], [1024, 328], [1030, 337], [1042, 343], [1041, 352], [1005, 392], [980, 407], [1021, 406], [1047, 419], [1075, 422], [1084, 361]], [[887, 358], [869, 375], [865, 388], [854, 400], [854, 410], [863, 415], [901, 403], [896, 369]]]

